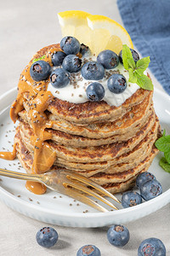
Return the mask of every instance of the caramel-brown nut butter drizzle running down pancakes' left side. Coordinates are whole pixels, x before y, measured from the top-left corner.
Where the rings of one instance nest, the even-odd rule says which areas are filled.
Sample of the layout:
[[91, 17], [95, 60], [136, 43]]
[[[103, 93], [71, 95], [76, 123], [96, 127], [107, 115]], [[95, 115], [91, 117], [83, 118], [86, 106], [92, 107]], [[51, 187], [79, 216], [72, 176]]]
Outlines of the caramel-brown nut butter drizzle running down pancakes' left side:
[[[59, 48], [53, 47], [48, 50], [43, 61], [47, 61], [52, 67], [51, 55]], [[32, 61], [26, 66], [24, 71], [20, 74], [20, 81], [18, 84], [18, 96], [10, 108], [10, 117], [16, 122], [18, 119], [18, 113], [24, 108], [29, 114], [31, 119], [30, 125], [33, 129], [34, 135], [31, 136], [31, 143], [34, 146], [34, 159], [31, 167], [32, 173], [47, 172], [54, 164], [56, 153], [48, 146], [47, 140], [52, 138], [52, 134], [45, 131], [46, 128], [52, 127], [52, 122], [48, 121], [47, 115], [44, 113], [47, 110], [50, 102], [53, 101], [54, 96], [48, 91], [49, 79], [43, 81], [35, 81], [31, 79], [30, 67]], [[14, 160], [16, 156], [16, 150], [12, 153], [1, 152], [0, 158], [6, 160]], [[42, 184], [27, 182], [26, 187], [35, 194], [42, 194]], [[33, 189], [36, 188], [36, 189]], [[39, 192], [37, 193], [39, 188]], [[43, 192], [44, 193], [44, 192]]]

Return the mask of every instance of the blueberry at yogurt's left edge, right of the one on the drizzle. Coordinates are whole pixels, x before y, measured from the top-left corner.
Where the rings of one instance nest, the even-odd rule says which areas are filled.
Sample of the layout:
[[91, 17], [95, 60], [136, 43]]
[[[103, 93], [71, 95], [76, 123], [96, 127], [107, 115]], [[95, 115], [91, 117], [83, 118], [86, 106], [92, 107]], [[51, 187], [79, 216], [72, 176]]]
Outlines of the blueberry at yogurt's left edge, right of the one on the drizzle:
[[50, 75], [50, 82], [55, 88], [63, 88], [69, 81], [69, 73], [63, 68], [56, 68]]

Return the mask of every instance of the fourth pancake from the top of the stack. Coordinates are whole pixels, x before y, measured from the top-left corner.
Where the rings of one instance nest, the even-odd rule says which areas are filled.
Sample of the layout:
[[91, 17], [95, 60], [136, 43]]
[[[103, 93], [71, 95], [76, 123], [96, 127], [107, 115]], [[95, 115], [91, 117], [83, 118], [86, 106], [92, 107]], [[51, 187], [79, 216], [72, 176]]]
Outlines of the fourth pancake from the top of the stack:
[[[76, 162], [98, 162], [105, 160], [113, 160], [114, 158], [127, 154], [128, 151], [133, 150], [144, 137], [153, 137], [158, 129], [158, 120], [153, 125], [152, 129], [148, 132], [146, 136], [147, 126], [150, 127], [150, 122], [144, 125], [143, 129], [136, 133], [136, 135], [130, 138], [127, 142], [118, 142], [106, 144], [103, 146], [96, 147], [86, 147], [86, 148], [71, 148], [65, 147], [64, 145], [54, 143], [53, 141], [48, 141], [50, 148], [54, 150], [58, 158], [65, 159], [66, 161], [76, 161]], [[24, 132], [20, 130], [21, 137], [26, 144], [30, 146], [31, 151], [33, 151], [33, 145], [31, 145], [30, 137], [32, 135], [31, 128], [25, 129]], [[29, 137], [30, 136], [30, 137]], [[26, 141], [27, 137], [27, 141]]]

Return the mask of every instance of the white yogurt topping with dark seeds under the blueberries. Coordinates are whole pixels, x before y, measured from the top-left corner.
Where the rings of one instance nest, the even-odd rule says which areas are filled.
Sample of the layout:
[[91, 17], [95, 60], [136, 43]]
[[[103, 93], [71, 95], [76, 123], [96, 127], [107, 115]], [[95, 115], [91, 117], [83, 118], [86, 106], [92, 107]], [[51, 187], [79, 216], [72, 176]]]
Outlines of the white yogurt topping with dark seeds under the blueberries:
[[[90, 55], [82, 58], [82, 65], [84, 61], [96, 61], [96, 57]], [[120, 94], [115, 94], [107, 87], [107, 80], [115, 71], [119, 71], [127, 79], [127, 88]], [[133, 93], [139, 89], [138, 84], [131, 84], [128, 82], [129, 74], [127, 70], [124, 69], [123, 65], [120, 63], [117, 67], [112, 69], [105, 69], [105, 77], [101, 80], [87, 80], [82, 77], [81, 71], [78, 73], [70, 73], [71, 81], [64, 88], [54, 88], [52, 84], [48, 84], [48, 90], [62, 101], [72, 102], [72, 103], [83, 103], [88, 102], [88, 97], [86, 95], [86, 88], [89, 84], [93, 82], [99, 82], [105, 88], [105, 97], [103, 100], [111, 106], [119, 107], [123, 102], [127, 100]]]

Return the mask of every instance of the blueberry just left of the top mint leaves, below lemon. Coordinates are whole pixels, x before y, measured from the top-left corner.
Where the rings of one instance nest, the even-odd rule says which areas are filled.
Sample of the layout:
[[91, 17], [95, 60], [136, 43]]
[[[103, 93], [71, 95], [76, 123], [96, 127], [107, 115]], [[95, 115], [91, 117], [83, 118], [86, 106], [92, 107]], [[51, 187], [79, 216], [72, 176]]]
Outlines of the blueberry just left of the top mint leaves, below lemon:
[[105, 49], [99, 53], [97, 61], [106, 69], [111, 69], [118, 66], [119, 57], [111, 49]]

